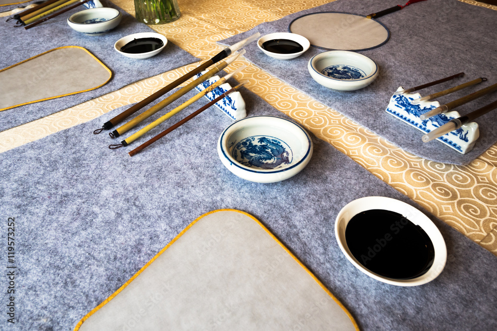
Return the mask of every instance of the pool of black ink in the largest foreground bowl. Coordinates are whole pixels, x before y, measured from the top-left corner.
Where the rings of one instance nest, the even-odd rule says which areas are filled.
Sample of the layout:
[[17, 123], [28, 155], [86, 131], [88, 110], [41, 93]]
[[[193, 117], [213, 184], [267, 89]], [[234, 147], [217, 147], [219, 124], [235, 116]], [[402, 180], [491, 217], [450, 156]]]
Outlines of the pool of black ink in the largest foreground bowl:
[[345, 228], [345, 241], [361, 265], [387, 278], [419, 277], [435, 258], [426, 232], [390, 210], [371, 209], [352, 217]]

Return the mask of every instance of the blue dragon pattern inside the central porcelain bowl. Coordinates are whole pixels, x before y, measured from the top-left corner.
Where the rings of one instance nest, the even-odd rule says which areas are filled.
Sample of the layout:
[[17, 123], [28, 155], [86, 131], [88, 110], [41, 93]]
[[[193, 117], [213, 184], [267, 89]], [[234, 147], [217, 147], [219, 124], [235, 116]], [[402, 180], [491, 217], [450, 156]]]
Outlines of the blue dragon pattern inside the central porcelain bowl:
[[270, 136], [251, 136], [233, 148], [233, 158], [240, 164], [259, 169], [278, 169], [292, 162], [292, 150], [282, 140]]

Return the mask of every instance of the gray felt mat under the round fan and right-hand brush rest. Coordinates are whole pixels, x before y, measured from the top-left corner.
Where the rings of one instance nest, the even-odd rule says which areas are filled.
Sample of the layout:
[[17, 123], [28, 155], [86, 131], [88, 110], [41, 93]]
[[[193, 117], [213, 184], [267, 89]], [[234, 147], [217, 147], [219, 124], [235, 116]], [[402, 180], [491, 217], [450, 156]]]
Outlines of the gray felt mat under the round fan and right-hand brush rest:
[[[322, 6], [263, 23], [243, 34], [223, 40], [232, 44], [255, 32], [265, 35], [287, 32], [290, 22], [304, 14], [342, 11], [367, 15], [399, 4], [396, 0], [337, 0]], [[488, 82], [437, 99], [442, 104], [497, 82], [497, 11], [457, 0], [429, 0], [413, 3], [378, 21], [390, 30], [389, 41], [376, 49], [359, 52], [379, 66], [379, 75], [369, 86], [350, 92], [334, 91], [318, 84], [309, 74], [307, 63], [326, 50], [311, 47], [292, 60], [275, 60], [264, 55], [256, 43], [246, 47], [245, 57], [255, 65], [337, 110], [361, 126], [384, 137], [402, 149], [428, 160], [467, 164], [497, 142], [497, 112], [477, 119], [480, 138], [472, 151], [460, 154], [436, 142], [423, 143], [423, 133], [385, 112], [399, 86], [410, 88], [458, 72], [463, 78], [420, 90], [421, 95], [445, 90], [463, 82], [487, 77]], [[497, 99], [497, 93], [456, 108], [461, 115]]]

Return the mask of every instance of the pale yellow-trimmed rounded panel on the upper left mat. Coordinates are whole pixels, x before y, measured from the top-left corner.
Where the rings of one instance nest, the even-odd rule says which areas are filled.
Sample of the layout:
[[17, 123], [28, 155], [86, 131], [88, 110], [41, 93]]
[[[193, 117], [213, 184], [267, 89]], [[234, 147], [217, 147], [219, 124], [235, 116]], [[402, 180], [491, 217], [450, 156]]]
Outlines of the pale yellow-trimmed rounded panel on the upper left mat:
[[112, 72], [86, 49], [52, 49], [0, 70], [0, 111], [94, 90]]

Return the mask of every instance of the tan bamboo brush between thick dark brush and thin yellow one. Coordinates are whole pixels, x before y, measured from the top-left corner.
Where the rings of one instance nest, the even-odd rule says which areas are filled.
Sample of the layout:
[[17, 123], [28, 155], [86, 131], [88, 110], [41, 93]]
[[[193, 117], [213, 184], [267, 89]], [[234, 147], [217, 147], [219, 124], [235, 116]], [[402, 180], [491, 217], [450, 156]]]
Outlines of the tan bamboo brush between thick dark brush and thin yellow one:
[[150, 116], [154, 115], [155, 113], [157, 113], [158, 111], [160, 111], [161, 109], [163, 109], [164, 107], [169, 105], [171, 102], [173, 102], [173, 101], [177, 100], [178, 98], [180, 98], [181, 96], [185, 95], [188, 91], [195, 88], [195, 86], [197, 86], [198, 84], [201, 84], [205, 80], [207, 80], [207, 79], [211, 78], [212, 76], [214, 76], [215, 74], [217, 74], [219, 71], [221, 71], [225, 67], [231, 65], [235, 60], [237, 60], [243, 54], [245, 54], [245, 50], [242, 50], [241, 52], [239, 52], [235, 56], [229, 58], [228, 60], [225, 60], [225, 61], [217, 64], [212, 69], [210, 69], [208, 72], [204, 73], [203, 75], [201, 75], [197, 79], [190, 82], [188, 85], [186, 85], [183, 88], [179, 89], [178, 91], [174, 92], [173, 94], [168, 96], [163, 101], [150, 107], [149, 109], [147, 109], [146, 111], [144, 111], [143, 113], [141, 113], [140, 115], [138, 115], [137, 117], [135, 117], [134, 119], [129, 121], [128, 123], [120, 126], [116, 130], [112, 131], [110, 133], [110, 136], [112, 138], [115, 138], [115, 137], [118, 137], [121, 134], [124, 134], [125, 132], [128, 132], [129, 130], [133, 129], [138, 124], [140, 124], [144, 120], [148, 119]]

